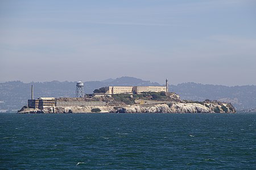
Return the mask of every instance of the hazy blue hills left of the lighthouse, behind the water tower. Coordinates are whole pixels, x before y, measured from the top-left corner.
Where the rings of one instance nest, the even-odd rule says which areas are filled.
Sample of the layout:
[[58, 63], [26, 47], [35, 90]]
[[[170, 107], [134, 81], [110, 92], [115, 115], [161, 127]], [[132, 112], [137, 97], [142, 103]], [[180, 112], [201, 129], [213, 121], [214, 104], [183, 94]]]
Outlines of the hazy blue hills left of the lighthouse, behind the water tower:
[[[0, 83], [0, 110], [20, 109], [23, 105], [26, 105], [27, 99], [31, 98], [31, 84], [34, 86], [35, 98], [43, 96], [75, 97], [76, 82], [5, 82]], [[95, 89], [105, 86], [160, 86], [160, 84], [128, 76], [123, 76], [117, 79], [108, 79], [102, 82], [84, 82], [84, 90], [86, 94], [92, 94]]]

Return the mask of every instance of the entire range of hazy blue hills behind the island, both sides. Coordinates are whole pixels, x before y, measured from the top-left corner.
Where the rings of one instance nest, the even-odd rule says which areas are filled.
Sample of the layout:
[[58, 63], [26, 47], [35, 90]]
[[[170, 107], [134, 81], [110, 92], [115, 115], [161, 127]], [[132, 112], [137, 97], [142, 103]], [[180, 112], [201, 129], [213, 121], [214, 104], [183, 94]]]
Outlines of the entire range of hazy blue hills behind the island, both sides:
[[[164, 82], [163, 82], [164, 83]], [[169, 82], [171, 83], [171, 82]], [[20, 81], [0, 83], [0, 110], [20, 109], [31, 97], [31, 84], [34, 85], [34, 97], [74, 97], [76, 82], [31, 82]], [[90, 81], [84, 83], [86, 94], [105, 86], [163, 86], [163, 84], [123, 76], [117, 79]], [[184, 100], [205, 99], [228, 101], [238, 110], [256, 108], [256, 86], [219, 86], [199, 83], [181, 83], [169, 86], [170, 92], [176, 92]]]

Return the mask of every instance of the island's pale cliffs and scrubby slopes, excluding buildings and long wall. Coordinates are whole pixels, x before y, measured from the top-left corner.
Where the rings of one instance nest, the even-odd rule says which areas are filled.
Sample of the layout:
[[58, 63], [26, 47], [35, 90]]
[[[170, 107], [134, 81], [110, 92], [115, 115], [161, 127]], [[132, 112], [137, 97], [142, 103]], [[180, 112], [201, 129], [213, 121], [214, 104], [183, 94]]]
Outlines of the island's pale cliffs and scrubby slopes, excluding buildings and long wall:
[[236, 109], [230, 103], [181, 100], [179, 95], [165, 92], [59, 98], [57, 101], [108, 101], [108, 105], [104, 107], [49, 107], [42, 110], [23, 107], [18, 113], [236, 113]]

